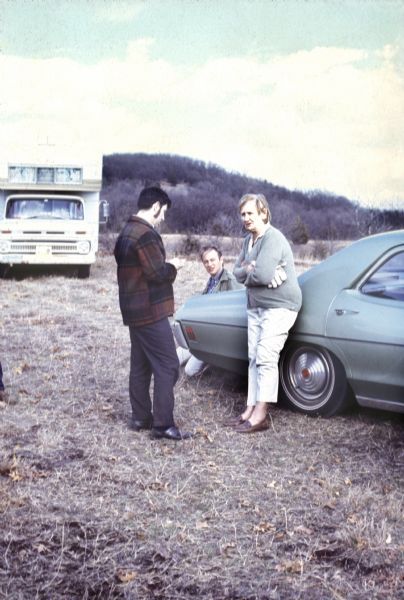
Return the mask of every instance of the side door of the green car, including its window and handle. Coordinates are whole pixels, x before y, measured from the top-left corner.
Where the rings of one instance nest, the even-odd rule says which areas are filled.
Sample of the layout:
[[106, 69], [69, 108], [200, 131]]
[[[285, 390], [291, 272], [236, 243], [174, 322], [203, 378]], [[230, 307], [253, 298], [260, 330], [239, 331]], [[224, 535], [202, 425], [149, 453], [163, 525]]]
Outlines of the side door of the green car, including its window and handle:
[[[326, 322], [361, 404], [404, 408], [404, 248], [390, 252], [333, 300]], [[374, 402], [369, 404], [374, 405]]]

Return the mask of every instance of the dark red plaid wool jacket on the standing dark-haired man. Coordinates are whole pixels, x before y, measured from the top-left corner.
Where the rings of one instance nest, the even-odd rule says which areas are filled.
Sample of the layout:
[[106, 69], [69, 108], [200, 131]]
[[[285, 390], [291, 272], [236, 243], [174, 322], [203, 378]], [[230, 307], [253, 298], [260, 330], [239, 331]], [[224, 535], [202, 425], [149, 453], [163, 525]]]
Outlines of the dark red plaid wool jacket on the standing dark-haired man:
[[132, 216], [114, 250], [119, 306], [125, 325], [150, 325], [174, 313], [174, 265], [166, 262], [163, 240], [144, 219]]

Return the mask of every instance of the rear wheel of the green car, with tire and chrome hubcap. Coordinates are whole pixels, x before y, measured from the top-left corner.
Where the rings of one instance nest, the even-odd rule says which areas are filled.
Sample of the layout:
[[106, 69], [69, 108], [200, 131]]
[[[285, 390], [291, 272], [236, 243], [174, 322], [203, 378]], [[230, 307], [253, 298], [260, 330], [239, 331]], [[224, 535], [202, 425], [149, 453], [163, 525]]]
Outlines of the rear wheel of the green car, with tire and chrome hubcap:
[[349, 387], [341, 362], [325, 348], [290, 345], [280, 365], [282, 400], [307, 415], [332, 417], [349, 403]]

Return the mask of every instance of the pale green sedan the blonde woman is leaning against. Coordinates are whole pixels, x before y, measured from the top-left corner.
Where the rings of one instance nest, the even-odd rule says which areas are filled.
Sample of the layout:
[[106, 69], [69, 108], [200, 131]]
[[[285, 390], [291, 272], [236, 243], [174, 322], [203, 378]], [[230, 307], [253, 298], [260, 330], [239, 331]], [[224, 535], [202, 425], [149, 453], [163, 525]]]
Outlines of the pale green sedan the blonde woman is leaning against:
[[[303, 306], [280, 359], [280, 395], [309, 415], [404, 412], [404, 230], [363, 238], [299, 276]], [[247, 372], [245, 290], [195, 296], [175, 337], [204, 362]]]

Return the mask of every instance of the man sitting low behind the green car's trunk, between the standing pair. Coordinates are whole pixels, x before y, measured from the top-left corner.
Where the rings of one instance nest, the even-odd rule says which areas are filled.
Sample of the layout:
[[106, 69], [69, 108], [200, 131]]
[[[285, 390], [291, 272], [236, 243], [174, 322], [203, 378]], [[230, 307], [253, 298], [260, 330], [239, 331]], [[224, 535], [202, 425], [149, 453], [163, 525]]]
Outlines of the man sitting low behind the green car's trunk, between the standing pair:
[[[218, 248], [215, 246], [205, 246], [201, 251], [200, 257], [203, 266], [210, 275], [202, 294], [228, 292], [243, 287], [236, 281], [234, 275], [224, 268], [222, 253]], [[185, 373], [188, 377], [198, 375], [205, 367], [204, 362], [192, 356], [190, 351], [185, 348], [177, 348], [177, 356], [180, 365], [185, 364]]]

